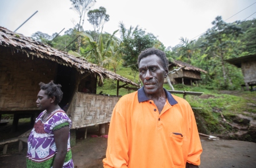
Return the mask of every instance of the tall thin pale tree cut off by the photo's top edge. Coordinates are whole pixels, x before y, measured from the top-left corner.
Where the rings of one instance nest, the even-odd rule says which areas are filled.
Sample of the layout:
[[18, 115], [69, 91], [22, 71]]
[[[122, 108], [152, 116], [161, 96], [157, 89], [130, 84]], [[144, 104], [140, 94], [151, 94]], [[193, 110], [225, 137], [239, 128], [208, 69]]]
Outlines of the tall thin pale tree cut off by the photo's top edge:
[[[86, 12], [94, 5], [96, 0], [70, 0], [72, 2], [71, 7], [73, 10], [75, 10], [79, 14], [79, 24], [77, 32], [80, 32], [80, 28], [84, 25], [84, 18]], [[81, 45], [81, 38], [78, 38], [78, 49], [77, 52], [80, 53], [80, 45]]]

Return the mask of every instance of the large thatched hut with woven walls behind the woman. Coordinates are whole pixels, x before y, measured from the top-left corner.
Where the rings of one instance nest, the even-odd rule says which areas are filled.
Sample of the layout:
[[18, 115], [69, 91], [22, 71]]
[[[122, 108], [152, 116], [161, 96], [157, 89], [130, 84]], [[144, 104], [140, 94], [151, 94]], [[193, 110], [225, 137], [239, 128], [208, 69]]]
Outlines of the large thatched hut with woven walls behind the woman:
[[[72, 128], [108, 123], [118, 101], [118, 89], [117, 96], [96, 94], [97, 84], [104, 78], [117, 80], [117, 88], [127, 84], [139, 87], [96, 64], [0, 27], [0, 116], [14, 114], [14, 126], [20, 117], [38, 112], [38, 84], [50, 80], [62, 85], [60, 106], [68, 105]], [[125, 84], [119, 86], [119, 81]], [[85, 87], [89, 93], [84, 93]]]

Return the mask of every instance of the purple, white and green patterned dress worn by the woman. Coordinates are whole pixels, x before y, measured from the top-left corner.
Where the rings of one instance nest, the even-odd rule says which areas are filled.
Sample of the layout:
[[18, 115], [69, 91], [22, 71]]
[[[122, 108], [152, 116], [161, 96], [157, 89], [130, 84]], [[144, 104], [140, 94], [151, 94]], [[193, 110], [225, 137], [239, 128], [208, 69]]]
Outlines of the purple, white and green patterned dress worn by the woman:
[[[65, 126], [69, 126], [70, 129], [72, 124], [62, 109], [53, 111], [51, 115], [43, 120], [42, 118], [45, 113], [46, 110], [36, 118], [34, 128], [28, 137], [28, 168], [52, 167], [55, 154], [57, 153], [53, 131]], [[63, 167], [71, 168], [73, 167], [73, 160], [70, 147], [70, 133], [68, 136], [67, 151]]]

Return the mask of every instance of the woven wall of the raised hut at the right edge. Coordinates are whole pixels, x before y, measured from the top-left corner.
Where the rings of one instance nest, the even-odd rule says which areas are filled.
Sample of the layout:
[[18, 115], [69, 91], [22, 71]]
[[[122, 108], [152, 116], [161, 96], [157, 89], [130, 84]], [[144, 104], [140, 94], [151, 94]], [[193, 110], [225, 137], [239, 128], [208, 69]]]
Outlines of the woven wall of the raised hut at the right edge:
[[246, 61], [241, 64], [245, 83], [256, 82], [256, 61]]

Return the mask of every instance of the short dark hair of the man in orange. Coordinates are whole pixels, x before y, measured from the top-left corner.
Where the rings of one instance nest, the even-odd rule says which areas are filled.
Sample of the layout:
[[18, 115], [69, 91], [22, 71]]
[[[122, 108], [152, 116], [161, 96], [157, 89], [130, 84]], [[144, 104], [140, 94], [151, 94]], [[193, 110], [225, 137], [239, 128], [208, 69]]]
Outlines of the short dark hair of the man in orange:
[[149, 49], [146, 49], [144, 51], [141, 51], [141, 54], [139, 54], [139, 57], [138, 57], [138, 66], [139, 66], [139, 62], [141, 62], [141, 59], [142, 58], [145, 58], [149, 55], [157, 55], [161, 60], [162, 60], [162, 65], [164, 68], [167, 68], [168, 70], [168, 60], [166, 58], [166, 53], [164, 53], [164, 51], [162, 50], [159, 50], [159, 49], [155, 49], [155, 48], [149, 48]]

